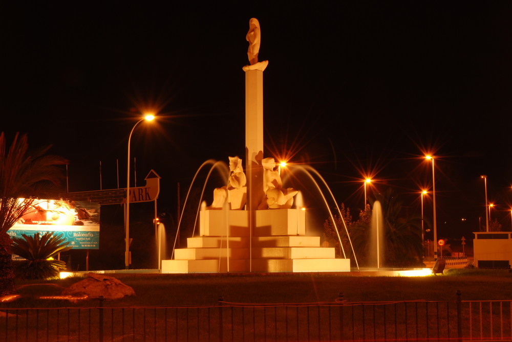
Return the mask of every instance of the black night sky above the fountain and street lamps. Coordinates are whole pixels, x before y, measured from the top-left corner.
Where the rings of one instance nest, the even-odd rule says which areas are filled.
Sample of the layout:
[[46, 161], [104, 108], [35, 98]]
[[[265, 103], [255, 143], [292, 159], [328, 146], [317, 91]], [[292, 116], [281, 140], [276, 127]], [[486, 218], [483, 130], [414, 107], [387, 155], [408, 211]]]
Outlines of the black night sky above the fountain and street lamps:
[[[69, 159], [69, 190], [161, 177], [175, 208], [206, 159], [244, 155], [245, 34], [260, 21], [265, 156], [292, 153], [357, 212], [363, 174], [419, 215], [435, 153], [438, 235], [510, 230], [510, 2], [49, 2], [2, 4], [2, 127]], [[132, 180], [133, 184], [133, 180]], [[218, 186], [220, 186], [219, 184]], [[425, 215], [431, 215], [430, 198]], [[163, 209], [162, 209], [163, 210]], [[428, 213], [428, 214], [427, 214]], [[174, 209], [173, 209], [174, 214]], [[466, 221], [461, 221], [466, 218]], [[445, 223], [446, 222], [446, 223]]]

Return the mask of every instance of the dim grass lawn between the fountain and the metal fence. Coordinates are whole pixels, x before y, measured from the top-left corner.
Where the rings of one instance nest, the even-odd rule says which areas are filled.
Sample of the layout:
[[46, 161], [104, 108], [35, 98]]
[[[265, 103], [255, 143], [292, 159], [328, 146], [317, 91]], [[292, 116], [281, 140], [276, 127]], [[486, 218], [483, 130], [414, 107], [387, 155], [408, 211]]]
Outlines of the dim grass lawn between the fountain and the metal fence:
[[[456, 291], [462, 300], [508, 300], [512, 298], [512, 273], [508, 270], [452, 269], [428, 277], [368, 277], [347, 273], [266, 274], [122, 274], [113, 275], [131, 286], [136, 296], [105, 302], [105, 306], [183, 306], [216, 304], [220, 295], [236, 303], [332, 302], [338, 293], [349, 302], [360, 301], [452, 301]], [[10, 303], [17, 307], [52, 305], [37, 295], [60, 294], [62, 288], [79, 278], [45, 282], [18, 281], [17, 292], [24, 299]], [[55, 285], [31, 285], [50, 283]], [[47, 301], [48, 302], [48, 301]], [[95, 301], [59, 306], [92, 306]]]

